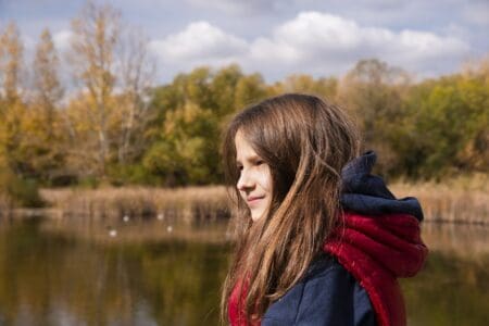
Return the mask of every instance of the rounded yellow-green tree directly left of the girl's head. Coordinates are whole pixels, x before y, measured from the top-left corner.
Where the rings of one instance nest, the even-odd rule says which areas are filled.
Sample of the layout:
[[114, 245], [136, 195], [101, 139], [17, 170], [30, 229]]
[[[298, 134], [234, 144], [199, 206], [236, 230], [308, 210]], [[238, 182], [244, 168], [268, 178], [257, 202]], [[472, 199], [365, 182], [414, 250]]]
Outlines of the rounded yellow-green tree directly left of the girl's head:
[[220, 136], [228, 117], [267, 96], [259, 74], [199, 67], [154, 91], [142, 166], [166, 186], [222, 181]]

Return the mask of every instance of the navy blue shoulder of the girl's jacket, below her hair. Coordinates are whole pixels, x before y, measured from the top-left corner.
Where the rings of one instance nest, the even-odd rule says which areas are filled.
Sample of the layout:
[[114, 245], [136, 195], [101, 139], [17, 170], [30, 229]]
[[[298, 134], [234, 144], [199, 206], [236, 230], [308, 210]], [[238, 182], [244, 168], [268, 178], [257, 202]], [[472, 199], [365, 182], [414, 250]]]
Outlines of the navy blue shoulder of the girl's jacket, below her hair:
[[375, 313], [353, 276], [325, 255], [268, 308], [262, 325], [375, 325]]

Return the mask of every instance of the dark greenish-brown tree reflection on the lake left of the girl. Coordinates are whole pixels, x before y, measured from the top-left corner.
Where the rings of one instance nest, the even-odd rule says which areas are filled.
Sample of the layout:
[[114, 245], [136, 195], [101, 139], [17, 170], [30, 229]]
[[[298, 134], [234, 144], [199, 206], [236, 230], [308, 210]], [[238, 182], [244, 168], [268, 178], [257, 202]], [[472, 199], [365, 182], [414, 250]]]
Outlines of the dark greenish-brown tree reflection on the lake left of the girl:
[[0, 324], [217, 324], [229, 246], [164, 233], [111, 239], [103, 224], [98, 230], [89, 238], [61, 233], [54, 222], [2, 224]]

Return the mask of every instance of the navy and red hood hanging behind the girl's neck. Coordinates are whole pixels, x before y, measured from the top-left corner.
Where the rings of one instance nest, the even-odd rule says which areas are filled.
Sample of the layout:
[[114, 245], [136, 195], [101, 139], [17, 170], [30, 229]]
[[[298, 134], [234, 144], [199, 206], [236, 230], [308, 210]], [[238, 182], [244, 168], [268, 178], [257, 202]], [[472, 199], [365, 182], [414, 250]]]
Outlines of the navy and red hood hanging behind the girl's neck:
[[343, 168], [344, 214], [324, 250], [367, 291], [379, 325], [405, 325], [397, 278], [414, 276], [427, 256], [419, 236], [423, 211], [415, 198], [396, 199], [380, 177], [371, 175], [375, 161], [371, 151]]

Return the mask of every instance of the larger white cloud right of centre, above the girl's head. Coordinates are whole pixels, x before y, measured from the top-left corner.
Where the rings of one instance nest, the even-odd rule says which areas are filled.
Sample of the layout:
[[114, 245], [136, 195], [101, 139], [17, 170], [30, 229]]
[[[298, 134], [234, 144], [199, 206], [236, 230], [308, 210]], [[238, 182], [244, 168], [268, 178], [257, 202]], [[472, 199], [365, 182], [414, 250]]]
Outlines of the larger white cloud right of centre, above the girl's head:
[[[338, 74], [364, 58], [379, 58], [414, 72], [441, 68], [461, 60], [469, 46], [434, 33], [362, 27], [354, 21], [319, 12], [303, 12], [252, 43], [251, 60], [262, 66], [287, 64], [304, 73]], [[267, 64], [264, 64], [267, 63]]]

